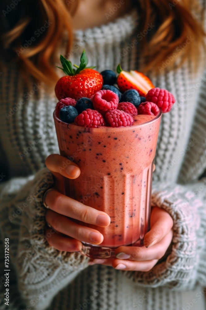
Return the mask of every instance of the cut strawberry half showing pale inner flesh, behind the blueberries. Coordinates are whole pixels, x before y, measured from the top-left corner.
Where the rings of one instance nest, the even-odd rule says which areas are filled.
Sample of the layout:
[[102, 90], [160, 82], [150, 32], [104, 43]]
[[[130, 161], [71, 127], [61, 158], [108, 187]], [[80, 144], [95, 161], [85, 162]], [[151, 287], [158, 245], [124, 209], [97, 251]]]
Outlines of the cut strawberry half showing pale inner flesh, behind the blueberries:
[[154, 85], [148, 77], [138, 71], [123, 71], [120, 64], [117, 66], [117, 85], [121, 92], [127, 91], [128, 89], [136, 89], [140, 96], [145, 97]]

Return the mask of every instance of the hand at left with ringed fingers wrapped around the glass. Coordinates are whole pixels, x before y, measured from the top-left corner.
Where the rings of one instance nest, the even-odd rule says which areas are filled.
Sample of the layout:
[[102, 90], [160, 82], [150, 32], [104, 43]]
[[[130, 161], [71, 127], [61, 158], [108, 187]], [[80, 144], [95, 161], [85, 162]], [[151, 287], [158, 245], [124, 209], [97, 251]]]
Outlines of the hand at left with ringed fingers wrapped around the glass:
[[57, 250], [67, 252], [80, 251], [82, 249], [81, 241], [95, 245], [102, 243], [103, 235], [98, 230], [77, 224], [72, 219], [99, 227], [107, 227], [110, 224], [109, 215], [63, 194], [63, 177], [78, 178], [80, 175], [78, 165], [58, 154], [49, 155], [45, 164], [55, 179], [54, 190], [49, 191], [45, 197], [45, 203], [49, 208], [45, 217], [49, 226], [57, 231], [48, 238], [48, 243]]

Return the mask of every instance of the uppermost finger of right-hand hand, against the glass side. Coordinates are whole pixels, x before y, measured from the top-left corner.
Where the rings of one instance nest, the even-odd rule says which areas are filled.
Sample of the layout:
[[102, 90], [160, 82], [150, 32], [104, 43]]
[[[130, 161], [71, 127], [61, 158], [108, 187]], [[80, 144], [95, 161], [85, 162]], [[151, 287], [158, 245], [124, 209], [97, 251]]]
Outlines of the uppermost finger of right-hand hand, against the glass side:
[[150, 246], [159, 242], [173, 227], [173, 220], [169, 213], [158, 207], [153, 207], [151, 214], [151, 229], [144, 237], [144, 245]]

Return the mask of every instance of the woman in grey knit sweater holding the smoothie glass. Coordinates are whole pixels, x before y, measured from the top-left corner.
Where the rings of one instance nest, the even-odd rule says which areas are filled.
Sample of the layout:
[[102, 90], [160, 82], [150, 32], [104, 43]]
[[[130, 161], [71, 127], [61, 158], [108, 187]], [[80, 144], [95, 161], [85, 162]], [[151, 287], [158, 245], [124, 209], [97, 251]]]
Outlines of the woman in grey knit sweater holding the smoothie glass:
[[[10, 306], [176, 310], [199, 303], [203, 309], [205, 3], [17, 2], [3, 1], [1, 28], [1, 253], [9, 238]], [[84, 205], [74, 214], [76, 202], [61, 193], [63, 176], [81, 172], [73, 163], [59, 173], [64, 158], [56, 154], [52, 119], [58, 56], [77, 63], [83, 48], [100, 72], [120, 62], [124, 70], [146, 72], [177, 99], [162, 117], [145, 246], [120, 247], [107, 261], [78, 252], [81, 241], [100, 244], [103, 236], [67, 217], [105, 227], [110, 218]]]

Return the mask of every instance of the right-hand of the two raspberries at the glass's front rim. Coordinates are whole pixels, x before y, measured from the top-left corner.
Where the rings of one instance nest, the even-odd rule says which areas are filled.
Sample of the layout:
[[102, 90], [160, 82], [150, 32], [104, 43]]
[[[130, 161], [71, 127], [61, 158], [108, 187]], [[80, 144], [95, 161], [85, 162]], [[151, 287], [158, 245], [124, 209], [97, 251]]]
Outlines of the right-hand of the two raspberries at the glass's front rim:
[[120, 110], [108, 111], [105, 118], [111, 127], [131, 126], [134, 122], [130, 114]]

